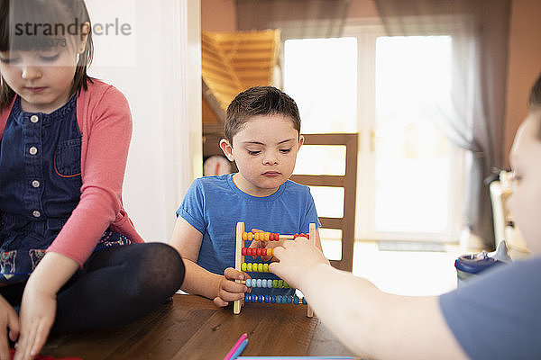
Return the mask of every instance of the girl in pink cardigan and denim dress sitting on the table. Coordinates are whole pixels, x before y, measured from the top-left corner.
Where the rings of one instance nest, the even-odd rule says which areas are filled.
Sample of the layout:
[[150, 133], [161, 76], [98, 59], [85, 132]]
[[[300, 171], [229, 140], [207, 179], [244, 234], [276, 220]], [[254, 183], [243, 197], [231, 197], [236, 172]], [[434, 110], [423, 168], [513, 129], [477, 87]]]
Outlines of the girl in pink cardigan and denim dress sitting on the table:
[[131, 114], [92, 50], [83, 0], [0, 0], [0, 359], [8, 338], [31, 359], [50, 330], [136, 320], [184, 278], [124, 211]]

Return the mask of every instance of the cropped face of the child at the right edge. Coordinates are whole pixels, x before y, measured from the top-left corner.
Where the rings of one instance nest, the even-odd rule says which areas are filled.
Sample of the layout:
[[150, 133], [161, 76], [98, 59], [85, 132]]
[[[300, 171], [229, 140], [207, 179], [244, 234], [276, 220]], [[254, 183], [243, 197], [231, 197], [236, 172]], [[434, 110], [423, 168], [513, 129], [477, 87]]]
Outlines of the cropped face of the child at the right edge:
[[541, 109], [530, 112], [518, 128], [510, 155], [514, 181], [509, 210], [534, 255], [541, 254], [541, 140], [537, 138], [540, 123]]

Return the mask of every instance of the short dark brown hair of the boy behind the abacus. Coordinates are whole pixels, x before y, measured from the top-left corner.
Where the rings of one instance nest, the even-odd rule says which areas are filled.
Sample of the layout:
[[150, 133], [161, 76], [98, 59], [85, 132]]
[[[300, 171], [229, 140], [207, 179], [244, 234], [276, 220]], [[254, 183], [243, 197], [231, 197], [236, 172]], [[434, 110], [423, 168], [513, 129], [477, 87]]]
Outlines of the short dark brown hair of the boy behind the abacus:
[[243, 125], [257, 115], [280, 114], [291, 119], [293, 128], [300, 134], [300, 115], [297, 103], [288, 94], [274, 86], [254, 86], [237, 94], [227, 107], [225, 139], [233, 146], [234, 135]]

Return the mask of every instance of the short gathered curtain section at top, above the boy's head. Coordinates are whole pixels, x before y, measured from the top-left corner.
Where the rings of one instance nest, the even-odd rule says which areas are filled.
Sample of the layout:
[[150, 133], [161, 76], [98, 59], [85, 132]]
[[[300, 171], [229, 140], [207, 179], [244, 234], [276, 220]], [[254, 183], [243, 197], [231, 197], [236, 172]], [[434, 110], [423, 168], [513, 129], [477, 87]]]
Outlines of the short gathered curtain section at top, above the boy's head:
[[352, 0], [237, 0], [239, 31], [280, 29], [282, 40], [340, 36]]

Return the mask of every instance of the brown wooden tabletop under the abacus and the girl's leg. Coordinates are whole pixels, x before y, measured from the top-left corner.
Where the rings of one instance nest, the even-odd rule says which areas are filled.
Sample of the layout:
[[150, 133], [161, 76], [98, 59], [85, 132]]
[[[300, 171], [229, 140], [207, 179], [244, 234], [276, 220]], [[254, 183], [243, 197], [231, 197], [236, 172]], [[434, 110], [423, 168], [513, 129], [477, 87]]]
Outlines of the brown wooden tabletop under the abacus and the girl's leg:
[[195, 295], [176, 294], [133, 324], [50, 337], [43, 356], [84, 360], [223, 359], [243, 334], [243, 356], [351, 355], [306, 305], [247, 303], [240, 315]]

